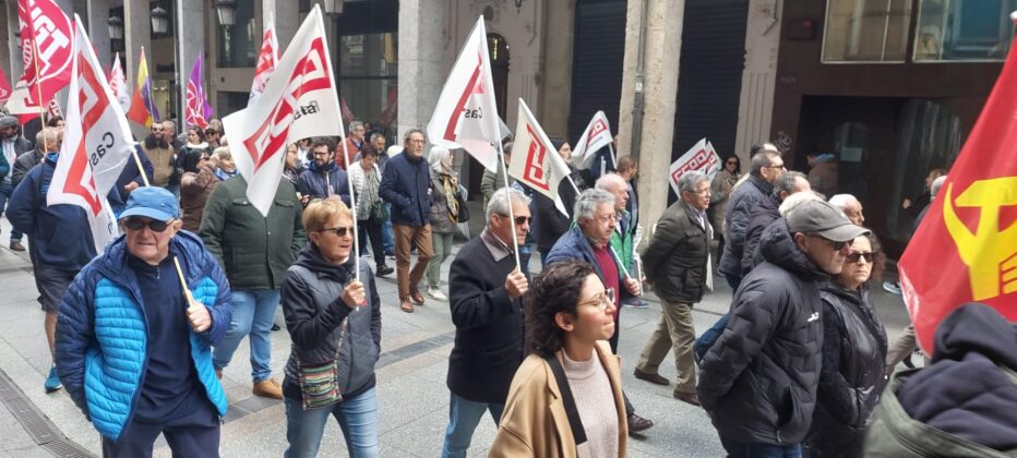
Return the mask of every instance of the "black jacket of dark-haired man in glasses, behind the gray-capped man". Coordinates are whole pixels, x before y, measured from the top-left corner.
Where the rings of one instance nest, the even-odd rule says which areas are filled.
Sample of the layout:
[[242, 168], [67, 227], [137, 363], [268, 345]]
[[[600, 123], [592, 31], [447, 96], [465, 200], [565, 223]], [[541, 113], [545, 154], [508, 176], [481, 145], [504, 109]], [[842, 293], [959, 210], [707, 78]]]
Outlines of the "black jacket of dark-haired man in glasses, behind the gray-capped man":
[[774, 186], [759, 177], [749, 177], [731, 193], [725, 213], [723, 254], [720, 256], [719, 269], [723, 275], [741, 276], [742, 253], [745, 246], [745, 230], [752, 208], [768, 198]]

